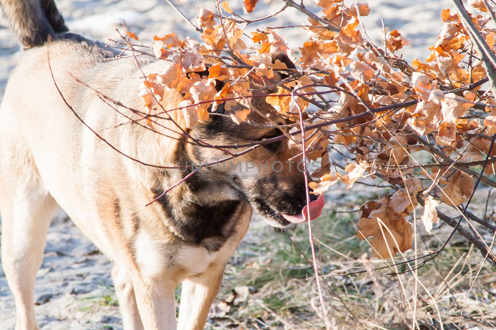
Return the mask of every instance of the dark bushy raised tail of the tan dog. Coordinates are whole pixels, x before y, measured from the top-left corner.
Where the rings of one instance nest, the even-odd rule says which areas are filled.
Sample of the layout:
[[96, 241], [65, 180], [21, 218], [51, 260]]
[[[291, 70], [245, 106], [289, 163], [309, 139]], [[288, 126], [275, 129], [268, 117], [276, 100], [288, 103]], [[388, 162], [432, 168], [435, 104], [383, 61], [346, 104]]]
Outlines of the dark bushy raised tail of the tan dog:
[[45, 44], [48, 35], [68, 31], [54, 0], [0, 0], [0, 7], [24, 49]]

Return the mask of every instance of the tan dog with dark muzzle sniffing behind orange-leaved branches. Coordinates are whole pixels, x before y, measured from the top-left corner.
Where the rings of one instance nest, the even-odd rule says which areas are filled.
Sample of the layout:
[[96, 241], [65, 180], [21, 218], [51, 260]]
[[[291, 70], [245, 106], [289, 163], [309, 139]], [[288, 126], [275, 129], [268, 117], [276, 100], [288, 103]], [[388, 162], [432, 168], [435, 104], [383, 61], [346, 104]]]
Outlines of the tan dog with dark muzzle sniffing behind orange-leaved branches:
[[[154, 130], [136, 125], [143, 117], [128, 109], [142, 108], [140, 77], [160, 71], [161, 61], [106, 61], [118, 53], [68, 32], [53, 0], [0, 5], [23, 48], [0, 106], [1, 253], [15, 329], [39, 329], [35, 277], [59, 205], [114, 263], [124, 329], [203, 329], [252, 211], [276, 227], [306, 220], [304, 173], [286, 162], [302, 160], [300, 147], [279, 140], [233, 159], [227, 170], [210, 166], [193, 173], [184, 164], [226, 157], [208, 145], [256, 142], [281, 132], [213, 115], [188, 129], [180, 110], [154, 118]], [[295, 67], [286, 56], [276, 57]], [[179, 108], [182, 97], [166, 92], [160, 106]], [[251, 122], [267, 124], [260, 113], [290, 123], [262, 98], [252, 106], [258, 111], [250, 113]], [[217, 111], [242, 108], [221, 105]], [[186, 134], [176, 134], [180, 130]], [[248, 161], [257, 166], [232, 169]], [[276, 161], [281, 169], [270, 166]], [[311, 195], [309, 205], [313, 219], [323, 198]], [[176, 321], [174, 291], [181, 283]]]

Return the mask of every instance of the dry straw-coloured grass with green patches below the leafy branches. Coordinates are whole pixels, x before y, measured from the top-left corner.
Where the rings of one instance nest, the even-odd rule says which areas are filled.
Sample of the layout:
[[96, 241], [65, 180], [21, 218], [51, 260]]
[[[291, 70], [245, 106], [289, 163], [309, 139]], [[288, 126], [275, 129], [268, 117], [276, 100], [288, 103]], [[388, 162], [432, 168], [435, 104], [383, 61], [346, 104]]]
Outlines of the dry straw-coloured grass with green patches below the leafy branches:
[[[331, 199], [335, 200], [333, 210], [313, 222], [331, 328], [496, 327], [495, 268], [463, 237], [456, 234], [438, 257], [417, 271], [388, 274], [406, 271], [415, 266], [413, 262], [372, 270], [392, 262], [370, 259], [368, 243], [354, 238], [358, 213], [336, 212], [352, 210], [363, 200], [356, 200], [353, 192]], [[419, 255], [440, 247], [451, 229], [441, 225], [431, 235], [419, 226]], [[486, 233], [485, 237], [491, 244], [492, 235]], [[413, 255], [411, 250], [405, 258]], [[395, 260], [399, 261], [403, 261], [401, 256]], [[365, 272], [344, 274], [359, 270]], [[206, 329], [325, 329], [312, 276], [305, 225], [283, 232], [255, 221], [248, 239], [227, 266]]]

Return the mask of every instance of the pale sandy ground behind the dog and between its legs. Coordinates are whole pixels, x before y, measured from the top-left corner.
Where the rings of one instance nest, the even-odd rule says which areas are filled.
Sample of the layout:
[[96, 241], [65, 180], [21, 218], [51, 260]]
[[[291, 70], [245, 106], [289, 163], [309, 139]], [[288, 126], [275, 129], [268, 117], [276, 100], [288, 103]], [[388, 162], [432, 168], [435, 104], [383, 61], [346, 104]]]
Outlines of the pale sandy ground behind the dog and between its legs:
[[[56, 0], [72, 32], [85, 37], [106, 41], [117, 39], [115, 28], [125, 20], [131, 31], [147, 44], [154, 34], [176, 32], [180, 37], [198, 35], [187, 26], [165, 1], [162, 0]], [[229, 1], [235, 11], [241, 12], [241, 1]], [[263, 2], [263, 1], [261, 1]], [[345, 1], [351, 2], [351, 1]], [[311, 7], [312, 1], [306, 1]], [[213, 8], [212, 0], [194, 0], [179, 5], [187, 17], [194, 18], [196, 6]], [[281, 1], [272, 0], [258, 6], [250, 17], [261, 17], [281, 8]], [[448, 0], [372, 0], [372, 12], [365, 17], [368, 35], [379, 42], [381, 18], [389, 30], [398, 29], [413, 45], [406, 48], [408, 60], [425, 58], [427, 47], [434, 44], [441, 28], [440, 9]], [[300, 24], [305, 18], [296, 10], [288, 9], [270, 21], [271, 26]], [[257, 27], [264, 29], [267, 22]], [[0, 19], [0, 100], [9, 72], [19, 56], [19, 47]], [[306, 39], [301, 29], [281, 32], [290, 47], [297, 49]], [[150, 43], [148, 43], [150, 44]], [[259, 221], [259, 220], [255, 220]], [[253, 227], [253, 226], [252, 226]], [[255, 226], [252, 230], [261, 230]], [[263, 229], [262, 229], [263, 230]], [[248, 233], [245, 239], [250, 243]], [[253, 243], [254, 244], [254, 243]], [[110, 294], [111, 264], [95, 250], [90, 241], [60, 212], [49, 231], [45, 259], [38, 271], [35, 301], [37, 319], [42, 329], [121, 329], [118, 308], [112, 306]], [[240, 283], [243, 285], [243, 283]], [[110, 304], [109, 304], [110, 303]], [[109, 306], [110, 305], [110, 306]], [[13, 329], [15, 309], [3, 271], [0, 269], [0, 329]]]

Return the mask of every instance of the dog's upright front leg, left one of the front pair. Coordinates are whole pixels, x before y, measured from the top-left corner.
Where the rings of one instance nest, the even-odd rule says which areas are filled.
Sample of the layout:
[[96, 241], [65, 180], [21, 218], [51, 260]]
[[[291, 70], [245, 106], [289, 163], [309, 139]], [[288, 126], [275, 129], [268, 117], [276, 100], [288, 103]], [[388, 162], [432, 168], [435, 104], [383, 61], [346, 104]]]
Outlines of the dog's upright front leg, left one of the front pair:
[[176, 282], [170, 279], [144, 280], [133, 276], [132, 284], [143, 328], [176, 329]]

